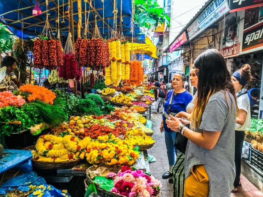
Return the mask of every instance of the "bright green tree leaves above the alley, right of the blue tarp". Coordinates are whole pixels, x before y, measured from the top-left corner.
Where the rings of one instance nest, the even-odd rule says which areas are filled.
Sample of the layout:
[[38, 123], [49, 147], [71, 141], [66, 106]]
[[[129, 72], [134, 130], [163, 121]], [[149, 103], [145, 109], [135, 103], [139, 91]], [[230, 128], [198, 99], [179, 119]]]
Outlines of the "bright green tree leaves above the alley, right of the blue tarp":
[[170, 26], [170, 17], [158, 5], [157, 0], [135, 0], [134, 21], [138, 26], [149, 28], [158, 26], [158, 22], [166, 22]]

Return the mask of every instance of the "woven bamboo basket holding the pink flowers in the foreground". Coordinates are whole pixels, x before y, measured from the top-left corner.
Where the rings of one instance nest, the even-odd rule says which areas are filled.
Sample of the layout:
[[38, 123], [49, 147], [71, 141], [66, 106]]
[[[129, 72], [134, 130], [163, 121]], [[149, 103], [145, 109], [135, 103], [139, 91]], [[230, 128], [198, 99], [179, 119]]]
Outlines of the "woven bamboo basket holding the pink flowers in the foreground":
[[[110, 172], [115, 172], [116, 174], [118, 173], [119, 170], [121, 170], [121, 166], [105, 166], [105, 167], [107, 167]], [[91, 167], [89, 167], [87, 169], [87, 171], [86, 171], [87, 184], [85, 183], [85, 188], [86, 188], [86, 186], [88, 188], [88, 185], [90, 185], [90, 183], [92, 183], [91, 178], [87, 174], [88, 170], [93, 171], [93, 170], [96, 170], [96, 169], [97, 169], [97, 167], [94, 167], [94, 166], [91, 166]], [[101, 188], [98, 185], [96, 186], [96, 189], [97, 189], [98, 195], [101, 195], [101, 196], [105, 196], [105, 197], [125, 197], [124, 195], [115, 194], [115, 193], [113, 193], [111, 191], [105, 190], [105, 189]], [[161, 190], [158, 191], [156, 197], [159, 197], [160, 195], [161, 195]]]

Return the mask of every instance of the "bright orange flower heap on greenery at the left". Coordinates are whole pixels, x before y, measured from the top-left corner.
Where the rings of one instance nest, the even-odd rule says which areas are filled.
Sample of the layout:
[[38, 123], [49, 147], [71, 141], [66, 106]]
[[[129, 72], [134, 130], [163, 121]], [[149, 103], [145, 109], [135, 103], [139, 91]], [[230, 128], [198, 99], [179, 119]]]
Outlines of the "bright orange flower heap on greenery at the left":
[[32, 102], [36, 98], [38, 98], [39, 100], [52, 105], [54, 99], [56, 98], [56, 95], [54, 92], [52, 92], [51, 90], [48, 90], [47, 88], [43, 86], [33, 86], [28, 83], [27, 85], [20, 86], [19, 90], [23, 92], [31, 93], [29, 94], [29, 97], [27, 98], [29, 102]]

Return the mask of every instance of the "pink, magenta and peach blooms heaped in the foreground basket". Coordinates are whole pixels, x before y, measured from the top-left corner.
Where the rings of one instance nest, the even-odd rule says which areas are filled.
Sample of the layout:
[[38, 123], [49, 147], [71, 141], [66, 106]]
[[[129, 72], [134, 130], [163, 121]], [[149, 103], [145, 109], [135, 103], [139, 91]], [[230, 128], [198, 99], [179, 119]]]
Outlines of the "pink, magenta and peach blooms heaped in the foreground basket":
[[[111, 175], [106, 177], [113, 177]], [[161, 182], [153, 176], [146, 175], [142, 170], [132, 171], [123, 166], [118, 175], [113, 177], [114, 187], [111, 192], [127, 197], [153, 197], [162, 187]]]

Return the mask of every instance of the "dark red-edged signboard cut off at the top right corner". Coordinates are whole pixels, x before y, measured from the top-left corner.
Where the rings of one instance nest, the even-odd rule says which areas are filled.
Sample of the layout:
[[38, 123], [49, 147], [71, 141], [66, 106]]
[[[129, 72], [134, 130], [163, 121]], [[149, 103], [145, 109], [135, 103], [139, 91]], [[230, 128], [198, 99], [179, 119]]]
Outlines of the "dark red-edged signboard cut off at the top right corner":
[[263, 6], [262, 0], [230, 0], [230, 12], [245, 10], [257, 6]]

